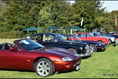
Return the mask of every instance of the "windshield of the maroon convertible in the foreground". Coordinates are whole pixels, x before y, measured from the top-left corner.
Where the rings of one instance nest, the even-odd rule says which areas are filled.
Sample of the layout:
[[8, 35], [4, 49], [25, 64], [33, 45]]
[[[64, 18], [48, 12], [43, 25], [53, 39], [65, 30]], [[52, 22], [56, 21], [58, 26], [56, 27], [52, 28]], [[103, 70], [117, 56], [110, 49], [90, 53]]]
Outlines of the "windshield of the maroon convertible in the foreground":
[[30, 39], [23, 39], [19, 41], [19, 44], [25, 49], [25, 50], [35, 50], [35, 49], [40, 49], [43, 48], [44, 46], [32, 41]]

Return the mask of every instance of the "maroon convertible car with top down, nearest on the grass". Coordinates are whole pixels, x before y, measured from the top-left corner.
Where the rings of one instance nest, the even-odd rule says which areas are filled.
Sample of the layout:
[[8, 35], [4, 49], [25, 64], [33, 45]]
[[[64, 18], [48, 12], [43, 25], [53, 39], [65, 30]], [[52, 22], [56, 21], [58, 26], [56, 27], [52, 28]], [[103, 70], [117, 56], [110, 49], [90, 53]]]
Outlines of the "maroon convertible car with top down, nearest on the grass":
[[79, 70], [81, 58], [63, 48], [45, 48], [30, 39], [0, 44], [0, 69], [32, 70], [40, 76]]

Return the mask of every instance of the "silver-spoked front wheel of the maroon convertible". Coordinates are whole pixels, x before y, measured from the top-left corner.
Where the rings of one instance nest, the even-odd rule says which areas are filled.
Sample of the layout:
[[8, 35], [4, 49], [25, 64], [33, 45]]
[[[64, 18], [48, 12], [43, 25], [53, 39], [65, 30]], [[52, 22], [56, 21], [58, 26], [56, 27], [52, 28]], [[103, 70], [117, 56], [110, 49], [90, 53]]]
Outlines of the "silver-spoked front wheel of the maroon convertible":
[[41, 58], [34, 64], [35, 72], [40, 76], [49, 76], [55, 73], [54, 64], [47, 58]]

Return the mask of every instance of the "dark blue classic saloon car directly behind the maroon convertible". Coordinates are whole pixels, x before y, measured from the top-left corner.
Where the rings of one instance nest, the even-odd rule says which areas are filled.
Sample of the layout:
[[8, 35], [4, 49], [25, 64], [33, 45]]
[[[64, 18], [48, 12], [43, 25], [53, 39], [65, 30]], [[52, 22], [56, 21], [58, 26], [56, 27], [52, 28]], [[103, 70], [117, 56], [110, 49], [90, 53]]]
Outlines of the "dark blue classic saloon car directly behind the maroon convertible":
[[30, 39], [46, 47], [69, 49], [81, 57], [90, 56], [95, 51], [93, 45], [66, 40], [63, 35], [58, 33], [38, 33], [30, 36]]

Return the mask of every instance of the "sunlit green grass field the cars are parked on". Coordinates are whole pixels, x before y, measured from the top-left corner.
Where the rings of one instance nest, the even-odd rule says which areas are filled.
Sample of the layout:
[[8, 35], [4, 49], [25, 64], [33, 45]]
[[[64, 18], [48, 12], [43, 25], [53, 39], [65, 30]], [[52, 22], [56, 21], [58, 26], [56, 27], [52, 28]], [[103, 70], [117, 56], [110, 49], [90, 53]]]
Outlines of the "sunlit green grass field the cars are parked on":
[[[12, 42], [13, 39], [0, 39]], [[45, 78], [35, 72], [0, 70], [0, 78]], [[79, 71], [57, 73], [46, 78], [118, 78], [118, 46], [110, 45], [104, 52], [96, 52], [91, 57], [82, 59]]]

